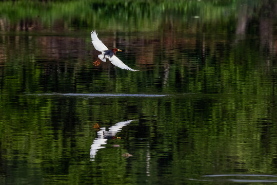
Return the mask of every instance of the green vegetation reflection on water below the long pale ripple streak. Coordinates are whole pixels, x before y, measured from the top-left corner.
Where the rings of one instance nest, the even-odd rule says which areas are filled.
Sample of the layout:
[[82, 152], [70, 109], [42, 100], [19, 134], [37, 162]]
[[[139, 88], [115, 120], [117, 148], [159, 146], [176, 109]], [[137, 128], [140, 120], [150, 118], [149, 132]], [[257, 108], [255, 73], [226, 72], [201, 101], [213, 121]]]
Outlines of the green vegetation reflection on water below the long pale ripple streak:
[[[175, 180], [238, 169], [276, 173], [276, 126], [272, 123], [277, 114], [273, 102], [264, 98], [22, 96], [18, 102], [22, 106], [7, 106], [0, 117], [2, 159], [9, 161], [4, 168], [8, 177], [28, 180], [37, 169], [38, 180], [81, 183], [91, 180], [84, 178], [89, 171], [98, 183], [126, 184], [145, 176], [142, 168], [147, 165], [150, 181], [162, 180], [156, 178], [157, 171], [163, 170], [170, 171], [164, 175], [169, 179], [173, 175]], [[124, 128], [122, 140], [108, 143], [122, 147], [107, 147], [98, 151], [96, 162], [89, 161], [90, 145], [96, 137], [93, 123], [108, 127], [130, 118], [140, 118], [140, 122]], [[133, 160], [122, 158], [126, 152], [134, 155]], [[22, 165], [30, 170], [24, 176], [21, 169], [9, 170]]]

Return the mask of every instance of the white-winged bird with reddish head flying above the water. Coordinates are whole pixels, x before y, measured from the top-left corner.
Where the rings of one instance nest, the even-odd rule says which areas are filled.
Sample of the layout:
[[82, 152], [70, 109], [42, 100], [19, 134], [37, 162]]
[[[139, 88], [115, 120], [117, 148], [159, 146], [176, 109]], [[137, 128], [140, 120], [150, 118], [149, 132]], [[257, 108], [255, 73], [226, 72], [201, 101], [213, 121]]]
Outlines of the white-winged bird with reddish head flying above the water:
[[111, 63], [117, 67], [120, 67], [122, 69], [127, 69], [131, 71], [138, 71], [131, 69], [127, 65], [125, 65], [120, 59], [115, 57], [116, 51], [121, 51], [120, 49], [114, 48], [112, 50], [108, 49], [105, 44], [101, 40], [98, 39], [97, 33], [94, 31], [91, 32], [91, 42], [96, 50], [101, 51], [102, 54], [98, 55], [98, 59], [93, 63], [93, 65], [97, 66], [100, 64], [101, 61], [98, 62], [98, 60], [102, 60], [103, 62], [106, 62], [106, 59], [109, 59]]

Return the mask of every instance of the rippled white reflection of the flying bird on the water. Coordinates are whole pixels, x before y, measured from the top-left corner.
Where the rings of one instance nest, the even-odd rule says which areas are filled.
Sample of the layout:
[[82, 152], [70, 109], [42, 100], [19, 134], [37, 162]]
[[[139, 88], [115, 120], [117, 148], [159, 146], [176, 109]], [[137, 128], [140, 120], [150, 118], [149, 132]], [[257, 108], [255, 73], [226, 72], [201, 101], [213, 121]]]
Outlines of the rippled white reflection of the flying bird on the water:
[[98, 138], [95, 138], [92, 145], [90, 146], [90, 160], [94, 161], [97, 151], [105, 148], [105, 146], [102, 145], [107, 144], [108, 139], [112, 139], [113, 136], [122, 130], [123, 126], [130, 124], [132, 121], [137, 120], [118, 122], [115, 125], [109, 127], [108, 131], [106, 131], [105, 127], [100, 128], [100, 131], [97, 132]]

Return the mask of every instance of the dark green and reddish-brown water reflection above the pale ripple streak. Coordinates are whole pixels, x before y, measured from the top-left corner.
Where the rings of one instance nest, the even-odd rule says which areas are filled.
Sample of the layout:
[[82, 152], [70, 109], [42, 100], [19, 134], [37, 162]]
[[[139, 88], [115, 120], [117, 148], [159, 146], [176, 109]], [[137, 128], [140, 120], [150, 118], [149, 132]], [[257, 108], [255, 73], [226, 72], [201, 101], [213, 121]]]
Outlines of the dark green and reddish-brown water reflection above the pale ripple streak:
[[[98, 53], [85, 54], [92, 46], [81, 38], [4, 35], [2, 40], [8, 44], [0, 44], [4, 53], [0, 96], [51, 92], [275, 95], [275, 53], [260, 51], [260, 41], [253, 45], [250, 36], [234, 44], [228, 35], [220, 39], [210, 34], [203, 35], [205, 38], [178, 36], [165, 42], [165, 36], [153, 38], [159, 42], [140, 38], [149, 42], [145, 45], [136, 42], [136, 37], [123, 35], [123, 39], [137, 43], [124, 46], [118, 42], [126, 48], [118, 57], [141, 70], [134, 73], [114, 68], [109, 62], [94, 67], [92, 61]], [[168, 42], [175, 46], [165, 45]], [[111, 45], [108, 40], [105, 43]], [[202, 44], [204, 47], [199, 47]], [[221, 47], [213, 48], [217, 45]]]

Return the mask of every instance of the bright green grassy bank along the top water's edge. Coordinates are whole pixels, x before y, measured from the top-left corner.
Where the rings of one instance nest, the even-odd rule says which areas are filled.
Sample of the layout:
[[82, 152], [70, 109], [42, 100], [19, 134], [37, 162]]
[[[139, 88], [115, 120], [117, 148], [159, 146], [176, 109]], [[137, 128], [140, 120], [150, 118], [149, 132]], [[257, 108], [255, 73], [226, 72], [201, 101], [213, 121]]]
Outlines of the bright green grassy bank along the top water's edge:
[[[155, 30], [163, 23], [185, 26], [187, 22], [227, 22], [242, 2], [227, 1], [5, 1], [0, 17], [10, 23], [39, 16], [43, 26], [63, 20], [69, 27]], [[248, 4], [253, 8], [258, 1]], [[199, 20], [195, 20], [199, 16]]]

